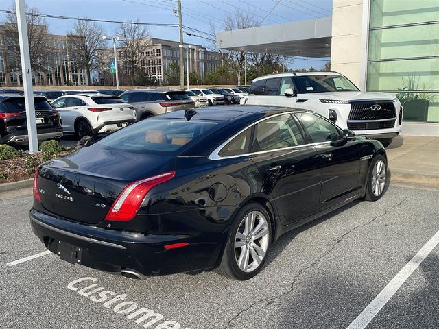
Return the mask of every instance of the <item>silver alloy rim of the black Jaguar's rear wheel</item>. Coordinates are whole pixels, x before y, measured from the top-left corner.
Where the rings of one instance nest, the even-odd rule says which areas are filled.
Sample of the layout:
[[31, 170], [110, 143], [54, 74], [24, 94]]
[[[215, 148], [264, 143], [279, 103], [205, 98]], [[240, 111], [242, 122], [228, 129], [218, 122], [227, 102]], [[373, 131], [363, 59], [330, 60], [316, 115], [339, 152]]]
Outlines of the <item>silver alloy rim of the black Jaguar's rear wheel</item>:
[[249, 212], [235, 236], [235, 260], [241, 271], [252, 272], [261, 265], [270, 241], [268, 222], [262, 212]]

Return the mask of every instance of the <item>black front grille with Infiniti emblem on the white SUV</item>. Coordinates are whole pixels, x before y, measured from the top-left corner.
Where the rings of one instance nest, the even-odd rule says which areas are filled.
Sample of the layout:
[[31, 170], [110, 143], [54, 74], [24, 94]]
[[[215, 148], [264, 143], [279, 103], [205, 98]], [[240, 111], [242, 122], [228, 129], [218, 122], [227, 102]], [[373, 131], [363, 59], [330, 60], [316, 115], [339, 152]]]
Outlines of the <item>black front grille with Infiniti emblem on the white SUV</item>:
[[[374, 108], [374, 106], [377, 108]], [[380, 106], [381, 108], [379, 108]], [[372, 110], [372, 108], [374, 109]], [[392, 101], [358, 101], [351, 102], [351, 112], [349, 112], [348, 120], [383, 120], [393, 118], [396, 118], [396, 111]]]

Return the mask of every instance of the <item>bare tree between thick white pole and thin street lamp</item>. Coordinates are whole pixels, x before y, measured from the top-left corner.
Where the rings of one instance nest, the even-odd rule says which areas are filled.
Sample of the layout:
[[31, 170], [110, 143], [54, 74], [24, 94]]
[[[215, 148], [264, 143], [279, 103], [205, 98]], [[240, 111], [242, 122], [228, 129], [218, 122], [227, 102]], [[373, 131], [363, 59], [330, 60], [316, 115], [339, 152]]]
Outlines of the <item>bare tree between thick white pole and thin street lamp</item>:
[[106, 46], [102, 39], [102, 28], [86, 19], [78, 19], [73, 29], [67, 34], [71, 53], [74, 55], [78, 69], [85, 69], [87, 84], [90, 84], [90, 73], [101, 64], [100, 49]]

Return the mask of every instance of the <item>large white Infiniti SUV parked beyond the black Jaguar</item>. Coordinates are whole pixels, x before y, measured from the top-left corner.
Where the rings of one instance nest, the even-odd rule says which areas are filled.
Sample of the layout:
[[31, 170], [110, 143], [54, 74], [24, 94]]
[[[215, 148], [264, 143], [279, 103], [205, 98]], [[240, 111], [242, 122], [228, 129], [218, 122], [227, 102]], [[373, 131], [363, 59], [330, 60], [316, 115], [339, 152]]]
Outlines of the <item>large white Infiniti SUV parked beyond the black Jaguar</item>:
[[387, 146], [401, 133], [403, 106], [395, 95], [362, 93], [336, 72], [278, 73], [253, 80], [246, 105], [302, 108], [342, 129], [379, 139]]

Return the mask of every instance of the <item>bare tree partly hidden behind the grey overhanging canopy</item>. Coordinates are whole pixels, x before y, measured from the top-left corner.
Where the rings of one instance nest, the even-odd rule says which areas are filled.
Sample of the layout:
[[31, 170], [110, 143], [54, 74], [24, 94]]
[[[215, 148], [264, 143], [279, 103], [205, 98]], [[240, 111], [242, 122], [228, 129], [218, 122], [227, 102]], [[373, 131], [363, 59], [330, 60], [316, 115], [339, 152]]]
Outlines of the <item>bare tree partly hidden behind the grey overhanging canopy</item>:
[[[254, 19], [254, 14], [250, 12], [244, 12], [242, 10], [237, 10], [235, 14], [226, 16], [222, 24], [222, 29], [224, 31], [232, 31], [234, 29], [248, 29], [257, 25], [258, 23], [256, 19]], [[211, 24], [211, 32], [212, 34], [216, 35], [217, 28], [213, 24]], [[215, 43], [211, 45], [211, 48], [219, 51], [222, 57], [222, 62], [230, 66], [230, 69], [235, 73], [237, 77], [237, 84], [240, 85], [241, 76], [244, 73], [246, 53], [244, 51], [237, 50], [224, 51], [222, 49], [217, 49]]]

